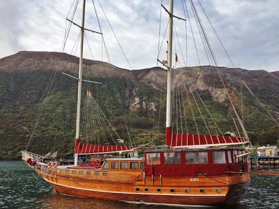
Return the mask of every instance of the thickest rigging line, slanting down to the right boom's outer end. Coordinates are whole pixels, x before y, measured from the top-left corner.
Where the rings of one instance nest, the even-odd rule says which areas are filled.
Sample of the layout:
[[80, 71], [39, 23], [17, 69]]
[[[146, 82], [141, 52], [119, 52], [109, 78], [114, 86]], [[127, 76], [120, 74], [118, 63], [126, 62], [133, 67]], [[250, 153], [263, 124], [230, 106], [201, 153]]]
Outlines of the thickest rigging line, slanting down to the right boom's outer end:
[[[190, 0], [190, 2], [193, 4], [193, 1], [192, 1], [192, 0]], [[195, 9], [195, 5], [194, 5], [194, 4], [193, 4], [193, 8]], [[195, 10], [195, 12], [197, 13], [196, 10]], [[199, 24], [202, 24], [202, 22], [199, 22]], [[216, 65], [216, 70], [217, 70], [218, 75], [219, 75], [219, 77], [220, 77], [220, 79], [221, 79], [221, 82], [223, 83], [223, 86], [224, 86], [224, 88], [225, 88], [225, 92], [227, 93], [227, 97], [229, 98], [229, 102], [231, 103], [232, 108], [234, 109], [234, 114], [236, 114], [236, 118], [237, 118], [237, 120], [239, 121], [239, 124], [241, 125], [241, 129], [243, 130], [243, 133], [244, 133], [246, 139], [249, 140], [249, 137], [248, 137], [248, 134], [247, 134], [247, 132], [246, 132], [246, 129], [245, 129], [245, 127], [243, 126], [243, 124], [242, 124], [242, 122], [241, 122], [241, 118], [239, 117], [239, 114], [237, 113], [236, 108], [234, 107], [234, 104], [233, 104], [233, 102], [232, 102], [232, 99], [230, 98], [229, 93], [228, 93], [228, 91], [227, 91], [227, 87], [225, 86], [225, 82], [224, 82], [224, 80], [223, 80], [223, 77], [222, 77], [222, 75], [221, 75], [221, 72], [220, 72], [220, 70], [218, 69], [218, 63], [217, 63], [217, 61], [216, 61], [216, 57], [214, 56], [213, 50], [212, 50], [211, 45], [210, 45], [210, 43], [209, 43], [209, 39], [207, 38], [206, 33], [205, 33], [203, 27], [202, 27], [202, 33], [203, 33], [204, 38], [205, 38], [205, 40], [206, 40], [206, 44], [209, 46], [209, 51], [210, 51], [210, 53], [211, 53], [211, 56], [212, 56], [212, 58], [213, 58], [213, 61], [214, 61], [215, 65]]]

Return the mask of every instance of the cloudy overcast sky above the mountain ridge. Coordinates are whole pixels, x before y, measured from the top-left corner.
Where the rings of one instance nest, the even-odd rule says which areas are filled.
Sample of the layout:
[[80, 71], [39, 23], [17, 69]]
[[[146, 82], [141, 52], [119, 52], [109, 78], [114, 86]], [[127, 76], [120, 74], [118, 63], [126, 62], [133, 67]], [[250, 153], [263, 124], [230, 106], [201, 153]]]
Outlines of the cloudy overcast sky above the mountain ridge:
[[[1, 0], [0, 1], [0, 58], [15, 54], [18, 51], [50, 51], [61, 52], [64, 38], [66, 17], [72, 3], [77, 0]], [[279, 70], [279, 1], [278, 0], [199, 0], [209, 16], [214, 29], [231, 56], [234, 65], [246, 69]], [[193, 0], [200, 19], [209, 37], [218, 65], [232, 67], [223, 51], [218, 38], [206, 20], [199, 1]], [[158, 55], [159, 26], [160, 41], [167, 26], [167, 13], [162, 10], [160, 24], [161, 0], [94, 0], [100, 25], [107, 45], [111, 63], [129, 69], [121, 49], [114, 38], [103, 10], [125, 52], [133, 69], [156, 66]], [[184, 17], [181, 0], [174, 0], [174, 13]], [[186, 0], [190, 21], [174, 20], [177, 36], [174, 32], [174, 52], [179, 56], [176, 67], [183, 65], [199, 65], [190, 26], [192, 26], [200, 64], [209, 65], [204, 52], [197, 24]], [[168, 1], [163, 4], [168, 8]], [[74, 22], [81, 22], [82, 1], [78, 3]], [[70, 14], [73, 13], [73, 8]], [[186, 14], [187, 15], [187, 14]], [[70, 17], [70, 15], [68, 16]], [[186, 18], [188, 19], [188, 17]], [[92, 0], [86, 0], [85, 27], [100, 31]], [[186, 38], [187, 28], [187, 38]], [[80, 29], [72, 26], [66, 43], [65, 52], [78, 55], [75, 40]], [[93, 58], [102, 60], [101, 36], [86, 32]], [[167, 37], [166, 37], [167, 38]], [[187, 50], [186, 50], [187, 40]], [[92, 59], [87, 41], [84, 40], [84, 56]], [[180, 50], [180, 47], [181, 50]], [[159, 58], [166, 59], [166, 42]], [[182, 55], [182, 53], [183, 55]], [[186, 53], [187, 52], [187, 53]], [[187, 54], [187, 56], [186, 56]], [[182, 57], [183, 56], [183, 57]], [[184, 58], [184, 61], [183, 61]], [[103, 61], [107, 61], [103, 47]]]

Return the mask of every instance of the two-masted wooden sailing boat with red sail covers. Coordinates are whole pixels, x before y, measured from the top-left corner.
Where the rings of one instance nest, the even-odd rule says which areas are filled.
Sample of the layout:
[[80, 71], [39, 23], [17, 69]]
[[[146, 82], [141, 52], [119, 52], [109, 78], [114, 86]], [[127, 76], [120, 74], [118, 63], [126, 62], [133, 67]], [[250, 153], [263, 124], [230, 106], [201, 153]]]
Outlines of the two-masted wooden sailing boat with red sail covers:
[[144, 157], [93, 159], [89, 165], [79, 164], [79, 155], [128, 152], [133, 156], [130, 146], [80, 141], [84, 11], [85, 0], [74, 164], [57, 166], [57, 162], [47, 162], [45, 157], [27, 151], [22, 152], [22, 159], [61, 194], [175, 206], [239, 203], [250, 185], [248, 153], [243, 146], [249, 142], [241, 137], [179, 134], [171, 127], [173, 0], [168, 10], [166, 148], [146, 150]]

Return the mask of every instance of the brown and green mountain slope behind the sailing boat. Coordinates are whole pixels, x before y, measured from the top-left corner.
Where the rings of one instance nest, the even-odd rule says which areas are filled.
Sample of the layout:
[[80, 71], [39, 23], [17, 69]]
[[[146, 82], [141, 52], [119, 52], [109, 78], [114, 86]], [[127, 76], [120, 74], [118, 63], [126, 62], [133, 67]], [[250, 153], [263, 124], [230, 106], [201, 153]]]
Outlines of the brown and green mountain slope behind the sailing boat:
[[[0, 159], [20, 157], [19, 151], [26, 148], [31, 135], [29, 150], [41, 154], [45, 154], [45, 150], [59, 151], [61, 155], [73, 153], [77, 83], [61, 72], [77, 76], [78, 64], [76, 56], [59, 52], [18, 52], [0, 59]], [[203, 120], [211, 123], [197, 93], [223, 132], [237, 132], [219, 73], [239, 113], [243, 93], [243, 120], [251, 141], [276, 144], [278, 127], [239, 79], [241, 77], [264, 107], [279, 118], [278, 72], [265, 70], [216, 69], [213, 66], [174, 70], [174, 91], [177, 93], [179, 89], [180, 96], [185, 96], [181, 101], [185, 101], [189, 132], [196, 132], [196, 121], [199, 132], [208, 134]], [[46, 98], [54, 74], [52, 91]], [[90, 88], [123, 139], [127, 139], [126, 125], [135, 144], [151, 139], [163, 144], [167, 86], [163, 68], [126, 70], [110, 63], [84, 59], [84, 78], [103, 83], [84, 84], [84, 94], [86, 88]], [[190, 103], [186, 93], [190, 95]], [[40, 120], [36, 124], [38, 116]], [[209, 128], [214, 132], [214, 127], [209, 125]]]

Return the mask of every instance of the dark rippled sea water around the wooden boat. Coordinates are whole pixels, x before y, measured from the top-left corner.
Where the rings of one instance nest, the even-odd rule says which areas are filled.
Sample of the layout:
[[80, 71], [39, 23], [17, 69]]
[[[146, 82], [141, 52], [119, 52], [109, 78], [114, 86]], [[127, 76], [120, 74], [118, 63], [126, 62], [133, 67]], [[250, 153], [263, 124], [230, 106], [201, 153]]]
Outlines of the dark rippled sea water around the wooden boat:
[[[251, 176], [246, 199], [230, 208], [279, 208], [279, 176]], [[0, 208], [177, 208], [64, 196], [22, 161], [0, 161]], [[187, 208], [187, 207], [186, 207]], [[222, 207], [224, 208], [224, 207]], [[229, 208], [229, 207], [226, 207]]]

